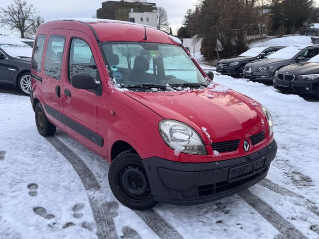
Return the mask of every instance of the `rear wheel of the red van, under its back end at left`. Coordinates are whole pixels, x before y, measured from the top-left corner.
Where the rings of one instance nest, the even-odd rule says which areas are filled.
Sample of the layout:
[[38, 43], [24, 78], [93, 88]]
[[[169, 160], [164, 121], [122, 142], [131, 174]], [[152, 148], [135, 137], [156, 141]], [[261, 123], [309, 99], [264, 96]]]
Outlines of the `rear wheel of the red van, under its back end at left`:
[[52, 136], [55, 133], [56, 126], [46, 118], [40, 103], [36, 104], [34, 112], [35, 123], [39, 134], [42, 136]]

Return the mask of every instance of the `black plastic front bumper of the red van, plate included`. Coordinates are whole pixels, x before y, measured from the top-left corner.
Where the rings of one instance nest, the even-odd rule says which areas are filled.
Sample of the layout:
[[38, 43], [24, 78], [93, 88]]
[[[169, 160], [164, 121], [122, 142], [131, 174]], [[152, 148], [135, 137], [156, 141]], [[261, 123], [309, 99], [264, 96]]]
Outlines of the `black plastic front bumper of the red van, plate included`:
[[154, 199], [195, 205], [227, 197], [266, 177], [277, 153], [274, 140], [249, 156], [209, 163], [182, 163], [152, 157], [143, 160]]

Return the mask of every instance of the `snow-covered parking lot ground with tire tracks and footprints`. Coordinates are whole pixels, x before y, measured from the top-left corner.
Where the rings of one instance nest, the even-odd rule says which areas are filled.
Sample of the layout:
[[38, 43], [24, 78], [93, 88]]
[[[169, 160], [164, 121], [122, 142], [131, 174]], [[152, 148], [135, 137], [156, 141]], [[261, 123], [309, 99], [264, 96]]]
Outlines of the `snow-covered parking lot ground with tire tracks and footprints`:
[[278, 153], [267, 178], [215, 202], [146, 212], [115, 199], [102, 158], [60, 130], [40, 136], [28, 97], [0, 93], [0, 238], [318, 238], [319, 103], [245, 79], [214, 82], [272, 113]]

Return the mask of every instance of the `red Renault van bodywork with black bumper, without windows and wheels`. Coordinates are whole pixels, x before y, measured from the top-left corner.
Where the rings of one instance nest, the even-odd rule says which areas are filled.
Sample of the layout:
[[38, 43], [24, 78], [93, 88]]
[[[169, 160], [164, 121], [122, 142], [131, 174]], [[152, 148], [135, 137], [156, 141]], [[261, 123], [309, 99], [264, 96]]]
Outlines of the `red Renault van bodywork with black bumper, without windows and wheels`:
[[[31, 69], [33, 109], [41, 104], [51, 123], [110, 163], [122, 151], [133, 148], [142, 159], [156, 201], [182, 205], [204, 203], [247, 188], [267, 175], [277, 145], [259, 103], [231, 90], [214, 90], [218, 86], [187, 91], [119, 91], [112, 84], [101, 43], [153, 42], [182, 46], [165, 32], [150, 27], [80, 21], [60, 20], [40, 25], [36, 39], [45, 36], [45, 43], [40, 72]], [[48, 39], [52, 35], [65, 38], [59, 80], [47, 76], [44, 69]], [[70, 44], [74, 38], [83, 39], [90, 46], [100, 75], [99, 94], [76, 89], [68, 80]], [[196, 61], [192, 61], [207, 77]], [[160, 135], [159, 123], [163, 119], [177, 120], [193, 128], [207, 154], [181, 152], [176, 156]], [[253, 144], [252, 137], [258, 135], [261, 141]], [[214, 153], [214, 143], [226, 142], [227, 146], [227, 142], [236, 140], [235, 150]], [[245, 140], [249, 143], [248, 150], [244, 149]]]

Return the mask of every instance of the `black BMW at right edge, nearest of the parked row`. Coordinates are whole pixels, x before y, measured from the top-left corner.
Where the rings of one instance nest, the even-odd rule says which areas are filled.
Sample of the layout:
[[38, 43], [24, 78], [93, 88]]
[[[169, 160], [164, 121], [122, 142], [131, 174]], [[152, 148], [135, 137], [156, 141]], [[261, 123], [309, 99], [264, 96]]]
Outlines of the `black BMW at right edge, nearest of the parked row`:
[[283, 92], [310, 94], [319, 98], [319, 55], [308, 62], [285, 66], [277, 71], [273, 86]]

